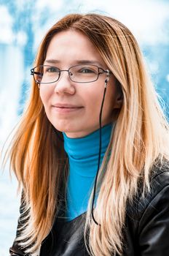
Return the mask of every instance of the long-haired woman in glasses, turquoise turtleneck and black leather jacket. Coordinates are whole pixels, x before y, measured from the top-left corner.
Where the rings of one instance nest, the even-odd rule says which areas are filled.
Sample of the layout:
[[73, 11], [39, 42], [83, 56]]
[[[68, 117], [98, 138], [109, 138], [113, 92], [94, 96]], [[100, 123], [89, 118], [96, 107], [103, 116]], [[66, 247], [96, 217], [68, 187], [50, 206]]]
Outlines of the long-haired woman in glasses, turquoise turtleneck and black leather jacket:
[[133, 34], [67, 15], [31, 75], [10, 151], [23, 188], [10, 255], [168, 255], [168, 122]]

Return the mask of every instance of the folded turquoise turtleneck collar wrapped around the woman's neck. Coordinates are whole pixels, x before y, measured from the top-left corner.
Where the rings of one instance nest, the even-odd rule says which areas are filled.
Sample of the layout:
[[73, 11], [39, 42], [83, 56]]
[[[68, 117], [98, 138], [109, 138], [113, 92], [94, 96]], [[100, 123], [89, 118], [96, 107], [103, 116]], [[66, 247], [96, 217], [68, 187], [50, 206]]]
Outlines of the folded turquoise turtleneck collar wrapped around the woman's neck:
[[[101, 162], [109, 145], [112, 124], [102, 127]], [[63, 133], [64, 148], [68, 154], [69, 171], [83, 177], [95, 177], [98, 166], [99, 129], [82, 138], [68, 138]]]

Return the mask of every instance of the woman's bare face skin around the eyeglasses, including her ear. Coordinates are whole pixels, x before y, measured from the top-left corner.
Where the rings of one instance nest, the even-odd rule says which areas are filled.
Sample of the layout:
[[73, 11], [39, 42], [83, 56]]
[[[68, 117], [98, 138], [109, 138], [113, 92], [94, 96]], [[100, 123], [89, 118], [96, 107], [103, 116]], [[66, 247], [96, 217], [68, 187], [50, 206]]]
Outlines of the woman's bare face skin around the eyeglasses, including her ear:
[[[68, 30], [52, 38], [44, 64], [67, 70], [84, 62], [107, 69], [90, 39], [79, 31]], [[63, 71], [57, 82], [41, 84], [40, 97], [52, 125], [69, 138], [80, 138], [98, 129], [105, 79], [104, 73], [92, 83], [76, 83], [70, 80], [68, 72]], [[102, 125], [109, 124], [114, 108], [119, 108], [117, 97], [114, 77], [110, 75]]]

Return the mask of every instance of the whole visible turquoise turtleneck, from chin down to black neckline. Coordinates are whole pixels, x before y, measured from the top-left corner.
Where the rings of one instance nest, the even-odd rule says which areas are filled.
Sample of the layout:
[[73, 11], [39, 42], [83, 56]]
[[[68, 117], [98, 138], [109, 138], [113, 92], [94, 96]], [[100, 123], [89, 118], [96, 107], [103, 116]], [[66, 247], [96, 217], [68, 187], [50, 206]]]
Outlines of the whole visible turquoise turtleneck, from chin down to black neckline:
[[[112, 124], [102, 128], [101, 162], [109, 145], [111, 129]], [[87, 211], [98, 167], [99, 129], [82, 138], [68, 138], [63, 133], [63, 138], [69, 162], [66, 217], [70, 221]]]

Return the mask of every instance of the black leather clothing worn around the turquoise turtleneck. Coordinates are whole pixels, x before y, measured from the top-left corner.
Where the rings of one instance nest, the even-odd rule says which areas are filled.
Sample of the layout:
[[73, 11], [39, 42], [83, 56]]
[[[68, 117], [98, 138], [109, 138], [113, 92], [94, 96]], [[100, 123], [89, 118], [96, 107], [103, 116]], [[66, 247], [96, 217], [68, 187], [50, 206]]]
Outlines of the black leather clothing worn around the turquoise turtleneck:
[[[70, 222], [56, 217], [39, 256], [87, 256], [84, 217], [85, 213]], [[151, 192], [145, 197], [138, 193], [128, 204], [124, 236], [124, 256], [169, 256], [169, 165], [154, 170]], [[10, 255], [25, 254], [14, 242]]]

